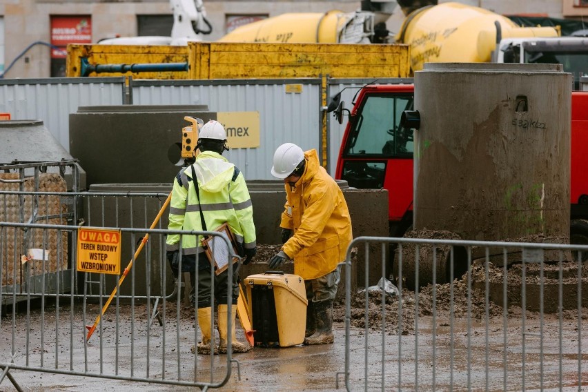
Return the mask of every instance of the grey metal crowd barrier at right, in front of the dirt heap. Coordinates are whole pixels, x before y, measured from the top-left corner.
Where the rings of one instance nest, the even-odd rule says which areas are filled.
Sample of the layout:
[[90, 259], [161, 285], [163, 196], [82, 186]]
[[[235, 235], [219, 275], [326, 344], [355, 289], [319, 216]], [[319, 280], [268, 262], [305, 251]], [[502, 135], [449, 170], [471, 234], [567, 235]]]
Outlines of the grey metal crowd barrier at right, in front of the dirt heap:
[[[387, 250], [395, 253], [395, 284], [382, 267], [377, 286], [351, 294], [358, 245], [366, 249], [365, 287], [369, 249], [378, 246], [382, 266]], [[586, 252], [561, 244], [354, 239], [342, 263], [345, 369], [337, 388], [344, 377], [348, 391], [588, 389]], [[433, 284], [419, 282], [422, 272]]]

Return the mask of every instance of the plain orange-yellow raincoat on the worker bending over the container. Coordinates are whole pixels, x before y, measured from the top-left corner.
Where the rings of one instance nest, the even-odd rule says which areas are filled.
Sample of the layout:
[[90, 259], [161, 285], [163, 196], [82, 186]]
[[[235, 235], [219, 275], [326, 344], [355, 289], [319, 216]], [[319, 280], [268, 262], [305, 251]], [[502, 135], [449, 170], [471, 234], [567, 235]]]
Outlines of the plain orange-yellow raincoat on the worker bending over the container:
[[335, 271], [353, 235], [341, 188], [320, 166], [316, 150], [306, 151], [304, 159], [306, 168], [295, 188], [286, 184], [280, 227], [293, 230], [282, 250], [294, 259], [294, 273], [307, 280]]

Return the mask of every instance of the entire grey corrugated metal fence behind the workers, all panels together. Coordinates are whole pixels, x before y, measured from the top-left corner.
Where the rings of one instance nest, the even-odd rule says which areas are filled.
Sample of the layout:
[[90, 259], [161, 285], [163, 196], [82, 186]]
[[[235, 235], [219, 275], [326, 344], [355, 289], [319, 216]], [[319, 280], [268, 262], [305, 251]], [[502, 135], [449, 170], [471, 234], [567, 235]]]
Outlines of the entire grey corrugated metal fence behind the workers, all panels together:
[[[373, 79], [330, 79], [328, 96], [342, 91], [351, 110], [358, 88]], [[379, 79], [376, 84], [412, 83], [412, 79]], [[286, 92], [288, 84], [302, 86], [300, 93]], [[321, 154], [321, 104], [319, 79], [266, 80], [135, 80], [131, 97], [137, 105], [207, 105], [217, 112], [259, 111], [259, 148], [228, 151], [247, 179], [273, 179], [269, 173], [275, 148], [286, 141]], [[345, 90], [344, 90], [345, 89]], [[12, 119], [40, 119], [69, 150], [69, 115], [79, 106], [124, 104], [124, 78], [0, 79], [0, 112]], [[337, 155], [348, 117], [338, 124], [327, 115], [327, 170], [335, 175]], [[320, 157], [322, 159], [322, 157]]]

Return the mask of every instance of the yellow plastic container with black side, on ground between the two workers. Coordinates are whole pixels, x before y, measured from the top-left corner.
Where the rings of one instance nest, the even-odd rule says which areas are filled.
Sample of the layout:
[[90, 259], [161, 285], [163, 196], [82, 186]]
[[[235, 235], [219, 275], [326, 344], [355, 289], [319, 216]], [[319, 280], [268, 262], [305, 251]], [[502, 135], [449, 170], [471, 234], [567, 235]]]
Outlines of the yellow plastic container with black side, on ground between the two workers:
[[255, 346], [302, 344], [308, 304], [302, 277], [272, 271], [249, 275], [243, 282]]

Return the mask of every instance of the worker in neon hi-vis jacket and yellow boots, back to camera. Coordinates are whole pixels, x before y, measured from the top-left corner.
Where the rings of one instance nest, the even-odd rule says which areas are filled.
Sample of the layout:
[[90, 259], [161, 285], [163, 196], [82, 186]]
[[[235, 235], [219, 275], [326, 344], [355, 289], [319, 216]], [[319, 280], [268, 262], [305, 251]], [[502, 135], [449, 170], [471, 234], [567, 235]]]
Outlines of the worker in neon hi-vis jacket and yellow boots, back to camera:
[[[253, 207], [243, 174], [222, 156], [226, 148], [226, 131], [218, 121], [208, 121], [202, 126], [196, 146], [200, 153], [194, 164], [182, 168], [173, 182], [168, 229], [186, 231], [213, 231], [224, 223], [233, 233], [239, 256], [243, 264], [251, 262], [256, 253], [255, 224]], [[203, 228], [203, 223], [205, 228]], [[228, 272], [216, 275], [206, 257], [197, 235], [168, 235], [166, 241], [167, 259], [177, 277], [179, 266], [182, 272], [190, 273], [192, 292], [190, 301], [198, 308], [198, 325], [202, 342], [198, 342], [198, 353], [211, 350], [226, 353], [227, 340], [232, 339], [233, 352], [242, 353], [251, 347], [237, 342], [235, 337], [235, 316], [239, 296], [239, 277], [233, 273], [232, 295], [227, 295]], [[179, 249], [182, 248], [180, 260]], [[198, 293], [195, 293], [196, 270], [198, 271]], [[212, 292], [214, 280], [215, 292]], [[211, 331], [211, 304], [213, 297], [218, 304], [219, 345], [215, 346]], [[227, 331], [227, 310], [231, 301], [232, 331]], [[192, 346], [192, 352], [195, 346]]]

